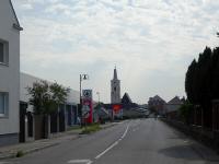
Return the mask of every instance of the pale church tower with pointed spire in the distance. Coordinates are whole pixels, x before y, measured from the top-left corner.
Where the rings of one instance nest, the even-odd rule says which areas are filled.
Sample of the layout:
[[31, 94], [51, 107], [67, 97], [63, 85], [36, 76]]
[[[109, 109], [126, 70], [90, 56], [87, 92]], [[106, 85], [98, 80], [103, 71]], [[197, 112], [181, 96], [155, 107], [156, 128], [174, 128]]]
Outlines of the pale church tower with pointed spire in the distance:
[[114, 69], [113, 80], [111, 81], [111, 103], [120, 103], [120, 80], [117, 78], [116, 68]]

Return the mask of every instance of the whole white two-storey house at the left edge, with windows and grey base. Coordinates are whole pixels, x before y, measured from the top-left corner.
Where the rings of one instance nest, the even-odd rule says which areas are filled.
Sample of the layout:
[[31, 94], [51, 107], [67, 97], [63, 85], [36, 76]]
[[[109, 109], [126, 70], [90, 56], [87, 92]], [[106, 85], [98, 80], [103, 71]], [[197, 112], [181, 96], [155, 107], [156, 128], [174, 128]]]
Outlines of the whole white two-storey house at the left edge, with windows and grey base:
[[0, 0], [0, 145], [19, 141], [20, 31], [11, 0]]

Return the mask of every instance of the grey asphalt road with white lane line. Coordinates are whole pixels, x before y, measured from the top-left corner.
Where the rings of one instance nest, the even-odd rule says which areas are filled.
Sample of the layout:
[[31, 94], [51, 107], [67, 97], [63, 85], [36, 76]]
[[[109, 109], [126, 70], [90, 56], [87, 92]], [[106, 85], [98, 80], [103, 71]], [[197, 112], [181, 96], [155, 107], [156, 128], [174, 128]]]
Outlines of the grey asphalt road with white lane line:
[[136, 119], [8, 164], [208, 164], [191, 144], [160, 120]]

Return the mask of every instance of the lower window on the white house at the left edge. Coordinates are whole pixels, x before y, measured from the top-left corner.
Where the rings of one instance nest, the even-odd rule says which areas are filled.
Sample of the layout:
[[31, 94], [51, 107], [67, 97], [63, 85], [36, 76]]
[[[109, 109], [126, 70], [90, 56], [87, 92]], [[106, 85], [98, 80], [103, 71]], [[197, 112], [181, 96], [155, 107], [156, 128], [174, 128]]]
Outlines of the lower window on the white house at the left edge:
[[0, 117], [4, 117], [8, 114], [9, 94], [0, 92]]

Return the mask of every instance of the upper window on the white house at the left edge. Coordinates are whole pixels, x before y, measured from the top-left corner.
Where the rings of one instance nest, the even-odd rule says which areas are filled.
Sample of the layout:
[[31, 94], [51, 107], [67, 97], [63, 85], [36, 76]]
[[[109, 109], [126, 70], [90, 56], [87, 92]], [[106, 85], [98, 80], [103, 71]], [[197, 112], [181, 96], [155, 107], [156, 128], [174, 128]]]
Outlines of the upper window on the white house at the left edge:
[[9, 62], [8, 45], [7, 42], [0, 39], [0, 63], [8, 65]]

